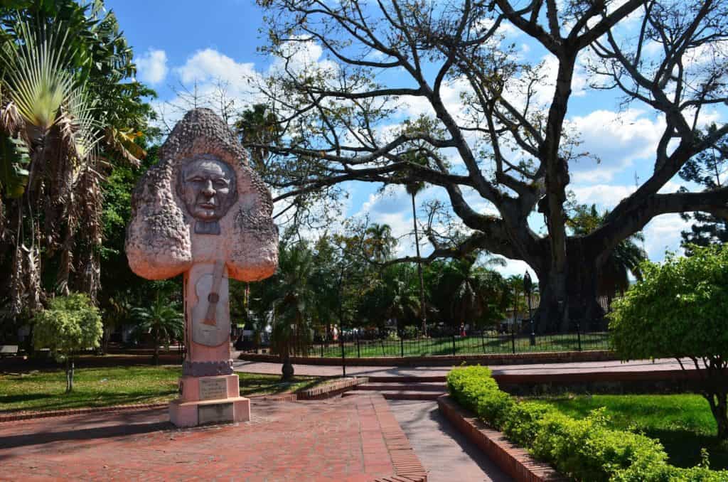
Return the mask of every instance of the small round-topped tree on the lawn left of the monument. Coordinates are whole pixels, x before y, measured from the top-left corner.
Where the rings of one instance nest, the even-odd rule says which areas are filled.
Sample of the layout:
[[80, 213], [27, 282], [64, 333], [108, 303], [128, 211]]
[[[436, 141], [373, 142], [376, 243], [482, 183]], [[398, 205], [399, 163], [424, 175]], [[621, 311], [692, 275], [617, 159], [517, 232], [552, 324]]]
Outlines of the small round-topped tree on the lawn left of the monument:
[[103, 334], [98, 308], [82, 293], [56, 296], [47, 309], [35, 315], [33, 347], [50, 348], [59, 361], [66, 361], [66, 393], [74, 390], [74, 352], [98, 348]]

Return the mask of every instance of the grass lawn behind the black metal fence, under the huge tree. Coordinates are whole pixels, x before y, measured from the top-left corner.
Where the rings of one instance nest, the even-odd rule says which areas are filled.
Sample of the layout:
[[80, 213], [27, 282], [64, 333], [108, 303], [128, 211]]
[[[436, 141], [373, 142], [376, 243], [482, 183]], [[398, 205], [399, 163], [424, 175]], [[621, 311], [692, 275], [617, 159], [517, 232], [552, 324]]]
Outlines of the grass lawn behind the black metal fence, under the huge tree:
[[[360, 340], [344, 343], [344, 352], [347, 358], [357, 357], [399, 357], [404, 352], [405, 357], [429, 355], [479, 355], [488, 353], [516, 353], [528, 352], [563, 352], [590, 349], [608, 349], [607, 333], [582, 333], [579, 338], [576, 334], [563, 335], [537, 335], [536, 344], [531, 345], [529, 336], [486, 335], [486, 336], [456, 336], [453, 347], [452, 337], [423, 338], [404, 340]], [[579, 343], [580, 342], [580, 343]], [[312, 347], [310, 356], [320, 357], [322, 347], [320, 344]], [[324, 357], [341, 357], [341, 345], [336, 343], [323, 346]]]

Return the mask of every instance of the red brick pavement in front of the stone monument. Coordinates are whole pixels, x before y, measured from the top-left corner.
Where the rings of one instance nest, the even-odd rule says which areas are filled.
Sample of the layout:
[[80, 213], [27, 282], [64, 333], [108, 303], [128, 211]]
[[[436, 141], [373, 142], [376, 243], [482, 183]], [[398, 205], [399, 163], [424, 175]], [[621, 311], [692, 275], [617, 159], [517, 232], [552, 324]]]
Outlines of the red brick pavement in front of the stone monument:
[[186, 430], [159, 408], [0, 424], [0, 479], [371, 481], [419, 464], [406, 438], [392, 440], [380, 395], [255, 400], [252, 413]]

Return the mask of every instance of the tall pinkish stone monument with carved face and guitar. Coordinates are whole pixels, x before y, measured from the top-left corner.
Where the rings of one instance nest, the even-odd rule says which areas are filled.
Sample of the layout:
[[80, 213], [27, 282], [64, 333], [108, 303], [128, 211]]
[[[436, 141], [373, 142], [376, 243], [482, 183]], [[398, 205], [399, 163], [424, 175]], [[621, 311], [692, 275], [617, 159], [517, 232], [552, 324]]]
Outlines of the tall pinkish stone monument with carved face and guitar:
[[[210, 405], [200, 405], [205, 399], [199, 393], [214, 392], [203, 390], [210, 382], [205, 377], [234, 377], [234, 383], [225, 382], [234, 397], [227, 393], [226, 398], [240, 398], [230, 359], [228, 280], [271, 276], [277, 266], [278, 232], [268, 189], [248, 166], [245, 150], [227, 125], [210, 109], [189, 111], [159, 157], [132, 194], [126, 251], [131, 269], [141, 277], [184, 275], [187, 352], [182, 398], [170, 406], [170, 415], [175, 423], [189, 424], [194, 417], [186, 403], [197, 402], [198, 411]], [[182, 408], [189, 408], [185, 416], [180, 415]], [[199, 412], [192, 424], [208, 418]]]

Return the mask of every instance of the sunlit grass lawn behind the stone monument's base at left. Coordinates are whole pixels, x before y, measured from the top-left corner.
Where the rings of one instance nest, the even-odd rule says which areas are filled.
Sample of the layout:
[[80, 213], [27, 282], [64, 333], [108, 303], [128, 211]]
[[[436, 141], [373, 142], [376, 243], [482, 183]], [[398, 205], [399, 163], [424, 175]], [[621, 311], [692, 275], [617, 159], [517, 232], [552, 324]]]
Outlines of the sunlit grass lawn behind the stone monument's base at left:
[[[180, 375], [181, 368], [170, 366], [76, 368], [74, 391], [65, 393], [63, 370], [0, 374], [0, 413], [167, 402], [177, 396]], [[295, 392], [326, 382], [297, 376], [282, 384], [279, 375], [238, 376], [242, 396]]]

